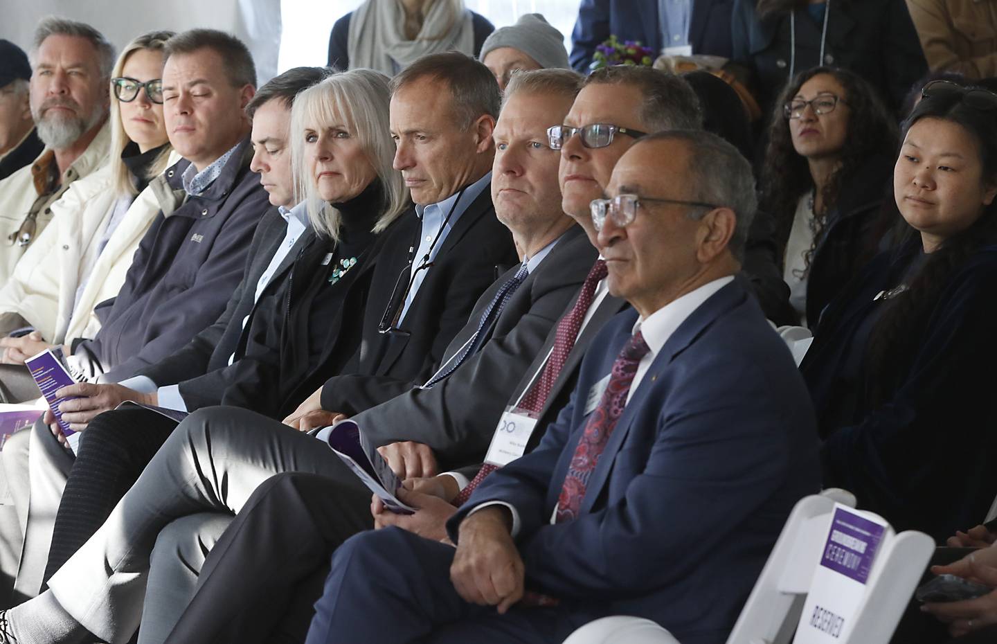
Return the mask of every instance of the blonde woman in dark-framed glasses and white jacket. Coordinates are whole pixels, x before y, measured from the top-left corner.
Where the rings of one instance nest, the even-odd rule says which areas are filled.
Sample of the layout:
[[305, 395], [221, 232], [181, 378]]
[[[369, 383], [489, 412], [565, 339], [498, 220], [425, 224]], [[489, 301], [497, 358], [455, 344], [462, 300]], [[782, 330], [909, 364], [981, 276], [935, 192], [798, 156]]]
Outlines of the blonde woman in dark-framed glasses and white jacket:
[[[0, 395], [16, 403], [37, 398], [25, 358], [51, 345], [93, 337], [94, 309], [115, 297], [139, 242], [159, 211], [149, 181], [178, 158], [163, 120], [163, 47], [172, 36], [154, 31], [118, 57], [111, 85], [111, 152], [103, 168], [73, 182], [52, 204], [52, 223], [18, 261], [0, 289]], [[18, 332], [17, 330], [20, 330]]]

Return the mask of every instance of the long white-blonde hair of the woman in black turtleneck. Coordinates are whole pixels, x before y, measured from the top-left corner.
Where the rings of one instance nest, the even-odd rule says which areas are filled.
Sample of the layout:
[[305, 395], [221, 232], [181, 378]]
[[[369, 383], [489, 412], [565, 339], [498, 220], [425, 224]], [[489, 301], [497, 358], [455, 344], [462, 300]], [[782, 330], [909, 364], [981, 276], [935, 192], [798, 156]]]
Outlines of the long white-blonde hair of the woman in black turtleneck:
[[388, 124], [391, 92], [388, 77], [374, 70], [339, 72], [303, 91], [291, 109], [291, 151], [295, 192], [307, 201], [308, 218], [315, 231], [339, 239], [340, 212], [318, 194], [315, 177], [306, 167], [304, 131], [321, 132], [342, 119], [374, 166], [384, 194], [383, 214], [374, 225], [381, 232], [409, 204], [409, 190], [402, 173], [392, 167], [395, 143]]

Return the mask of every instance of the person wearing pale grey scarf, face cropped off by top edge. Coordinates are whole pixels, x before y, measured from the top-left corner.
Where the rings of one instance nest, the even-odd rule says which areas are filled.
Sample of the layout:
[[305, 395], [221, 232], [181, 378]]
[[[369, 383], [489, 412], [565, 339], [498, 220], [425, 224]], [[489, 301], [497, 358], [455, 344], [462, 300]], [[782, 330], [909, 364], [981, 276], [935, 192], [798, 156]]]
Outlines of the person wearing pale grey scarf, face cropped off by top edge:
[[333, 25], [328, 65], [394, 76], [427, 54], [456, 50], [477, 57], [493, 31], [464, 0], [365, 0]]

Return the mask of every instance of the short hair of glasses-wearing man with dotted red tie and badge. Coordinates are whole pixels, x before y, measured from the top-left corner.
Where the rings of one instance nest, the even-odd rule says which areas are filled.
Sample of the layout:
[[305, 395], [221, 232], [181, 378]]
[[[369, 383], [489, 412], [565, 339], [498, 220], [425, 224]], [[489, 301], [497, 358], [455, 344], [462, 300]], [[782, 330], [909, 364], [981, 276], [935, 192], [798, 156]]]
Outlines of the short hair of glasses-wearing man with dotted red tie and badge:
[[614, 65], [595, 70], [589, 85], [630, 85], [644, 96], [640, 122], [649, 132], [700, 130], [703, 110], [692, 86], [679, 76], [652, 67]]

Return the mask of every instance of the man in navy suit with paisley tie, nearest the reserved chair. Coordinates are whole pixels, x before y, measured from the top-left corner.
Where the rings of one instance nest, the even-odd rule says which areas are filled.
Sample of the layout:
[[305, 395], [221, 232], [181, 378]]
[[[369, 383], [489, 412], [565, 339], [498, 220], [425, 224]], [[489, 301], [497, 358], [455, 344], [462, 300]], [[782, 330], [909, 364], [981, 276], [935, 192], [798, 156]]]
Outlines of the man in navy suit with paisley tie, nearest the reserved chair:
[[337, 549], [310, 643], [560, 642], [614, 613], [683, 644], [726, 640], [820, 487], [803, 381], [734, 281], [751, 167], [714, 135], [660, 133], [607, 193], [599, 247], [634, 310], [595, 339], [539, 447], [451, 519], [456, 548], [386, 528]]

